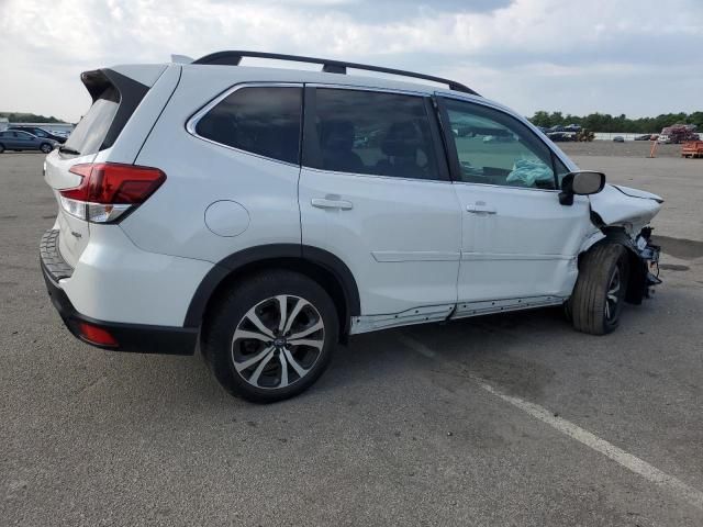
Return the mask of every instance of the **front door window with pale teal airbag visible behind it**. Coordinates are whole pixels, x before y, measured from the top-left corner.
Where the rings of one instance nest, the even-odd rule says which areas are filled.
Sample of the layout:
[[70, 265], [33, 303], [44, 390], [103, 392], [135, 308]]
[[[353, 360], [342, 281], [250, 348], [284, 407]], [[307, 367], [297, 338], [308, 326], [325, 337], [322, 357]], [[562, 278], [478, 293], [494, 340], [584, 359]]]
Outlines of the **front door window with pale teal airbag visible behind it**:
[[523, 123], [480, 104], [445, 100], [461, 181], [555, 188], [551, 150]]

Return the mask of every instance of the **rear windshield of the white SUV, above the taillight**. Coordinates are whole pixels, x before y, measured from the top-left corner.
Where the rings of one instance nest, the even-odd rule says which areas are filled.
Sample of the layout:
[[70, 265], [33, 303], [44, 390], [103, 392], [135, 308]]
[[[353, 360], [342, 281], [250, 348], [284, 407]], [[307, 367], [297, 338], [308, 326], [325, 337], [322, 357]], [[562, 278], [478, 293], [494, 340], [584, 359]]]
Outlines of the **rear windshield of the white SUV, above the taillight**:
[[97, 154], [120, 108], [120, 93], [110, 86], [82, 116], [64, 145], [81, 155]]

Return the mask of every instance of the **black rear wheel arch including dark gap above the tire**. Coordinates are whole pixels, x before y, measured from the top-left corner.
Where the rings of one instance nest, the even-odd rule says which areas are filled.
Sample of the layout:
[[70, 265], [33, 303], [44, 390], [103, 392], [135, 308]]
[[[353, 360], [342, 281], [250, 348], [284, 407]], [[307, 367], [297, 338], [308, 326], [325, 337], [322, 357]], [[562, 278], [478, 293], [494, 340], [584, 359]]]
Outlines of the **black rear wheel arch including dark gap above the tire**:
[[346, 340], [352, 317], [361, 314], [354, 274], [332, 253], [298, 244], [249, 247], [223, 258], [200, 282], [188, 306], [183, 327], [200, 327], [220, 294], [243, 277], [267, 269], [293, 270], [320, 283], [337, 307], [341, 339]]

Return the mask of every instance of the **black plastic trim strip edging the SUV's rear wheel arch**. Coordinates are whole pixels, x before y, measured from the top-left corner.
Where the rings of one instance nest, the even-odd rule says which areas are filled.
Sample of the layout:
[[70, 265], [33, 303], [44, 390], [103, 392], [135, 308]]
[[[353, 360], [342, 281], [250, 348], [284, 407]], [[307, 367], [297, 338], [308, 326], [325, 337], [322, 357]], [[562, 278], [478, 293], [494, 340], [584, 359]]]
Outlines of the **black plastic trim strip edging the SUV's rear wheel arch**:
[[338, 281], [345, 296], [345, 307], [347, 313], [347, 319], [342, 328], [343, 334], [347, 334], [349, 330], [349, 324], [353, 316], [359, 316], [361, 314], [361, 301], [359, 298], [359, 289], [356, 283], [354, 274], [349, 268], [337, 256], [332, 253], [313, 247], [309, 245], [300, 244], [270, 244], [259, 245], [256, 247], [249, 247], [244, 250], [234, 253], [222, 260], [205, 274], [200, 282], [200, 285], [196, 290], [188, 312], [186, 313], [186, 319], [183, 321], [183, 327], [196, 328], [200, 327], [202, 317], [208, 307], [210, 299], [217, 290], [220, 284], [227, 279], [232, 273], [248, 266], [256, 264], [257, 261], [276, 260], [276, 259], [300, 259], [313, 265], [323, 267], [330, 271], [334, 278]]

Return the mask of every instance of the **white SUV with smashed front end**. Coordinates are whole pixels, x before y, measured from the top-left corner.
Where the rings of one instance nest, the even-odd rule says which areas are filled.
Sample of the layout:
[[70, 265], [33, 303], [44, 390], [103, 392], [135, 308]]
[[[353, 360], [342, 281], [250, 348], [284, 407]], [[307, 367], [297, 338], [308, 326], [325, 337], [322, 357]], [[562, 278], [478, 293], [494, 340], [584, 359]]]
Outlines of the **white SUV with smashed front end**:
[[659, 197], [579, 171], [457, 82], [250, 52], [81, 80], [92, 105], [45, 162], [55, 306], [101, 348], [200, 345], [245, 399], [303, 391], [362, 332], [565, 304], [605, 334], [658, 282]]

